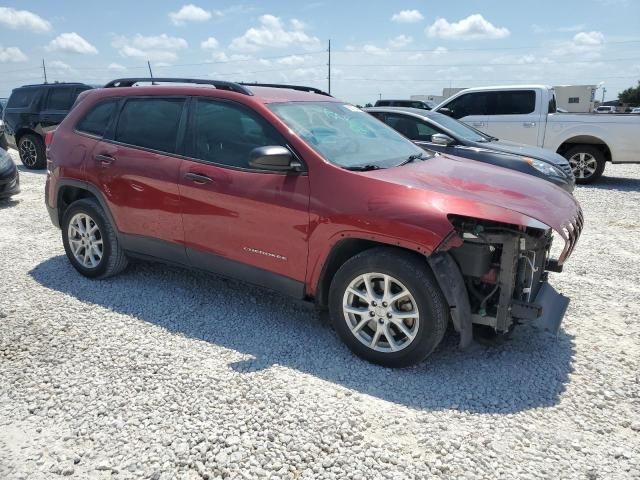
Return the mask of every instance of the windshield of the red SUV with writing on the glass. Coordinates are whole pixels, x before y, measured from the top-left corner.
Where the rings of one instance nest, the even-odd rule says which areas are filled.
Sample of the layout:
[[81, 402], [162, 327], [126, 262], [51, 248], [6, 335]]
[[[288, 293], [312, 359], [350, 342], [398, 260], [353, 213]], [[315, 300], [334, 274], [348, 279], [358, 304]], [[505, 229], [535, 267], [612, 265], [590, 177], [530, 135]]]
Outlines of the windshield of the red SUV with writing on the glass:
[[268, 105], [307, 145], [340, 167], [391, 167], [427, 152], [353, 105], [290, 102]]

